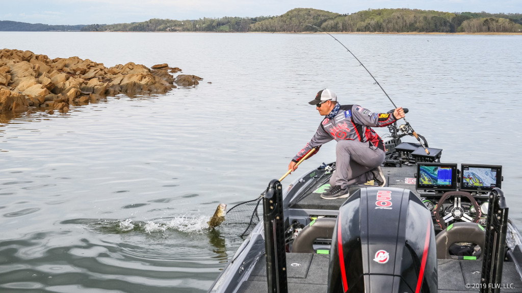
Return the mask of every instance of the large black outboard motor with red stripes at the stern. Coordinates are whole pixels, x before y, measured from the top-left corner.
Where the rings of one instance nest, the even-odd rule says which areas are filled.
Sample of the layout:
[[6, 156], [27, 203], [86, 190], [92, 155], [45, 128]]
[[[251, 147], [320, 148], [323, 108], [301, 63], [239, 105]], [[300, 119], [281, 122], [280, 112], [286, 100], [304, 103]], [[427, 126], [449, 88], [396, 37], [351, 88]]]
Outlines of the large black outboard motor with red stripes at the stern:
[[340, 207], [328, 292], [437, 292], [431, 213], [409, 190], [362, 188]]

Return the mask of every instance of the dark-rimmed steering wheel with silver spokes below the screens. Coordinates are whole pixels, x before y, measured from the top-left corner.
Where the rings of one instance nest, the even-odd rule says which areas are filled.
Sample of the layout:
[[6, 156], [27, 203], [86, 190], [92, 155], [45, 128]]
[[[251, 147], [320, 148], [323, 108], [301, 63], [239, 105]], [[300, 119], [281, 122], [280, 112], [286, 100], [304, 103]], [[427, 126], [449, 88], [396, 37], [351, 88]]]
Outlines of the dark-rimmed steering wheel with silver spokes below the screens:
[[[449, 214], [445, 215], [441, 218], [440, 210], [442, 204], [449, 198], [454, 198], [454, 204], [453, 209]], [[464, 209], [462, 209], [462, 206], [460, 205], [460, 200], [462, 197], [466, 197], [469, 199], [475, 210], [477, 211], [477, 214], [474, 218], [471, 218], [469, 215], [467, 215], [464, 212]], [[482, 216], [482, 213], [480, 212], [480, 206], [479, 203], [473, 198], [471, 193], [465, 192], [465, 191], [448, 191], [444, 193], [440, 200], [437, 202], [437, 206], [435, 207], [435, 211], [433, 211], [435, 214], [435, 219], [438, 223], [438, 225], [441, 226], [441, 228], [444, 230], [447, 227], [447, 223], [454, 220], [460, 220], [464, 222], [473, 222], [477, 223]]]

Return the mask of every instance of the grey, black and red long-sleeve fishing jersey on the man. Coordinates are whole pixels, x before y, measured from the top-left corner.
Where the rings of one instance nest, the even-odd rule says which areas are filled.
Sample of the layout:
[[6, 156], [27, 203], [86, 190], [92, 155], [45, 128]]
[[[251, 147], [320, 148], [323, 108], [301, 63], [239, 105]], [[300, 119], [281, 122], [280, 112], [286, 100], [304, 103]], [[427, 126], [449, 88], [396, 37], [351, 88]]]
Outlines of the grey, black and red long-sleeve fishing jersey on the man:
[[[373, 113], [359, 105], [341, 105], [333, 119], [324, 118], [317, 128], [312, 140], [297, 153], [292, 161], [299, 162], [313, 148], [317, 148], [331, 140], [357, 140], [370, 142], [378, 149], [385, 151], [384, 142], [371, 127], [388, 126], [397, 119], [393, 114]], [[312, 154], [312, 155], [313, 155]]]

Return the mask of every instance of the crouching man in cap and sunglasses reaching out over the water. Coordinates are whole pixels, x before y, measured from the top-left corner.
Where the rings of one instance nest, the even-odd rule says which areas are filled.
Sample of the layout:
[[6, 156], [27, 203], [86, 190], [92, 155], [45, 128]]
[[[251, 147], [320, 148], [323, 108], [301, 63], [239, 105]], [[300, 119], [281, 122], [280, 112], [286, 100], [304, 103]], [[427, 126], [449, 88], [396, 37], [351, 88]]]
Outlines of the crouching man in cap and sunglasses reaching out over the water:
[[330, 178], [331, 188], [321, 194], [322, 198], [346, 198], [350, 185], [370, 180], [384, 186], [386, 179], [380, 167], [385, 157], [384, 142], [371, 127], [388, 126], [404, 118], [402, 107], [396, 108], [393, 114], [386, 114], [373, 113], [359, 105], [341, 106], [336, 93], [329, 89], [319, 91], [309, 104], [315, 105], [319, 114], [326, 117], [312, 140], [293, 157], [288, 169], [294, 171], [296, 164], [313, 148], [316, 150], [312, 155], [321, 145], [335, 139], [336, 170]]

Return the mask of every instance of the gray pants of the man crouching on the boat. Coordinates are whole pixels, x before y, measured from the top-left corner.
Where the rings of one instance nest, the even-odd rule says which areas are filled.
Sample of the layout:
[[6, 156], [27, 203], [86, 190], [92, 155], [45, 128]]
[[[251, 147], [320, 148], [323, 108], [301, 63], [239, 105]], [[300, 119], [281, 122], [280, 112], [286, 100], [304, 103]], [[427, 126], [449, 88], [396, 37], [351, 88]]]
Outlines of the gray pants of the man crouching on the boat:
[[384, 151], [369, 142], [340, 140], [336, 146], [336, 163], [330, 185], [349, 186], [373, 180], [372, 169], [384, 162]]

